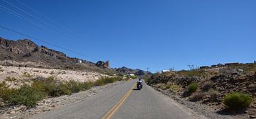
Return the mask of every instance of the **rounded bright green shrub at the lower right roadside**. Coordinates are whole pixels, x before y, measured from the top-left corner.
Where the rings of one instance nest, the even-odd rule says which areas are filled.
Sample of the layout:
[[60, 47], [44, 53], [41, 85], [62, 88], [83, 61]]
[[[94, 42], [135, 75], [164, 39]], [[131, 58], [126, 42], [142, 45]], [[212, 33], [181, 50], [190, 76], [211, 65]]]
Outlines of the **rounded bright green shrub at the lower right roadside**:
[[223, 103], [229, 111], [239, 111], [250, 106], [252, 96], [240, 92], [233, 92], [224, 97]]

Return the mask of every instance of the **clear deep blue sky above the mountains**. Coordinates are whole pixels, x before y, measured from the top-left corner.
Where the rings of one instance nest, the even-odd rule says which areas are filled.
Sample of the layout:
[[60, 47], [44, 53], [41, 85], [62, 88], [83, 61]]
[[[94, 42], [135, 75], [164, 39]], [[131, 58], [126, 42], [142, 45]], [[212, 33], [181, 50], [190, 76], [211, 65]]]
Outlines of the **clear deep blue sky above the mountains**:
[[[1, 6], [44, 26], [38, 27], [0, 9], [1, 26], [96, 59], [110, 60], [115, 64], [112, 67], [144, 70], [149, 67], [149, 71], [156, 72], [170, 67], [188, 69], [188, 64], [202, 66], [256, 60], [255, 0], [19, 0], [52, 21], [16, 0], [6, 1], [36, 18], [2, 0]], [[7, 39], [26, 38], [1, 28], [0, 33]], [[70, 57], [97, 62], [46, 46]]]

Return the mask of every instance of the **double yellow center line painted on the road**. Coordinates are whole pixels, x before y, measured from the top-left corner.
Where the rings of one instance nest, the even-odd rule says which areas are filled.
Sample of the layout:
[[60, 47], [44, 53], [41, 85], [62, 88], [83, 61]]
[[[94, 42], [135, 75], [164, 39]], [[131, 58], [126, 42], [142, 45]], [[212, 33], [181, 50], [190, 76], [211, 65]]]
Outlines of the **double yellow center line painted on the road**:
[[118, 108], [120, 106], [122, 106], [122, 103], [124, 103], [124, 101], [128, 98], [129, 94], [132, 93], [132, 89], [134, 88], [134, 86], [136, 85], [136, 83], [132, 86], [131, 89], [129, 89], [129, 91], [127, 92], [127, 94], [125, 94], [120, 101], [118, 101], [118, 103], [116, 103], [113, 108], [110, 109], [110, 111], [108, 111], [103, 117], [102, 119], [110, 119], [112, 117], [112, 115], [114, 115], [114, 113], [118, 110]]

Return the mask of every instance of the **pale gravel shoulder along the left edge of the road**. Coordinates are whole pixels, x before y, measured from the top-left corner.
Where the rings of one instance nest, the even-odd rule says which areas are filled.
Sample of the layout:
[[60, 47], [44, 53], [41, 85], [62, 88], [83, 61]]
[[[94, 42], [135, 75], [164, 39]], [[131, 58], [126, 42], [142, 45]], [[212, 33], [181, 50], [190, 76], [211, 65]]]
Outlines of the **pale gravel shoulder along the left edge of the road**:
[[25, 106], [13, 106], [13, 107], [1, 107], [0, 118], [31, 118], [33, 115], [40, 114], [47, 111], [52, 111], [57, 108], [62, 108], [71, 103], [76, 103], [85, 100], [90, 96], [95, 96], [101, 91], [107, 91], [113, 86], [124, 84], [126, 81], [116, 81], [112, 84], [106, 84], [105, 86], [95, 86], [87, 91], [80, 91], [70, 96], [60, 96], [55, 98], [46, 98], [43, 101], [38, 102], [36, 108], [26, 109]]

